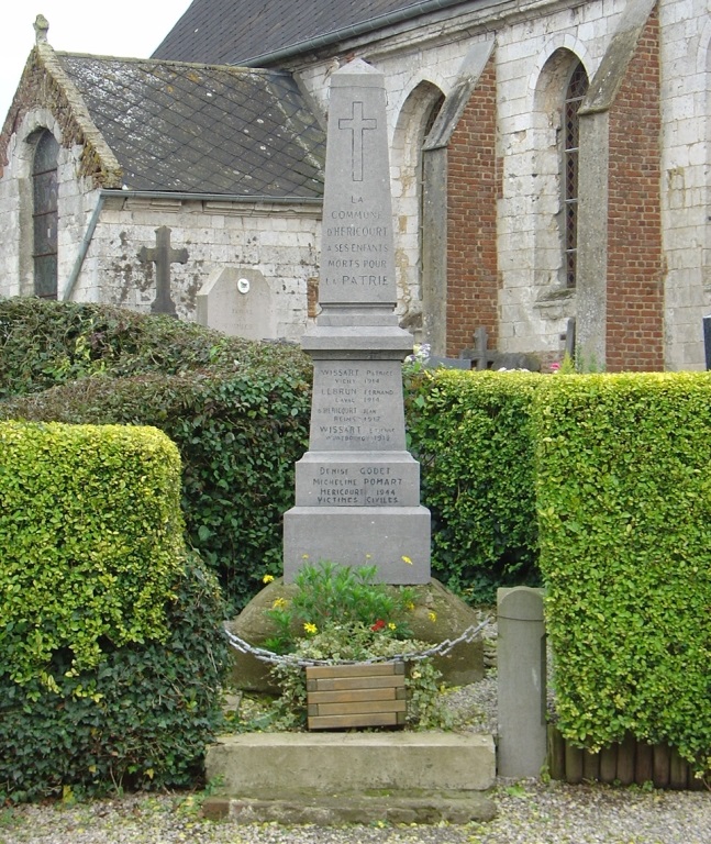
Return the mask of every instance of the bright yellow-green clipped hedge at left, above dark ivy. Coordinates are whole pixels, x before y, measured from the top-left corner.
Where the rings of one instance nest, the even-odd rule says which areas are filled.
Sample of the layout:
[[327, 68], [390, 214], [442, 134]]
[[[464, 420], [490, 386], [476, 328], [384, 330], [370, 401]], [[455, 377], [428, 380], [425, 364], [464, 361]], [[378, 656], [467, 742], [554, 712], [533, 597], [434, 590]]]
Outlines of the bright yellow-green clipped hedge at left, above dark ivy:
[[155, 429], [0, 423], [0, 658], [51, 687], [52, 655], [168, 634], [185, 556], [180, 458]]

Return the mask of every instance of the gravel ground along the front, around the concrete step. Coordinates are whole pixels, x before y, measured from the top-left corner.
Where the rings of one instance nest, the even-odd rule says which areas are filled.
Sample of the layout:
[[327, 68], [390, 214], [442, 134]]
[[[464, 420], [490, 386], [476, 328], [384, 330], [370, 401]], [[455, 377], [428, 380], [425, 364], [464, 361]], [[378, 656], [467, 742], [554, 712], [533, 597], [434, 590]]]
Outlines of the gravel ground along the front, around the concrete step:
[[499, 814], [464, 826], [284, 828], [210, 822], [199, 796], [133, 795], [0, 810], [0, 844], [709, 844], [711, 793], [497, 784]]

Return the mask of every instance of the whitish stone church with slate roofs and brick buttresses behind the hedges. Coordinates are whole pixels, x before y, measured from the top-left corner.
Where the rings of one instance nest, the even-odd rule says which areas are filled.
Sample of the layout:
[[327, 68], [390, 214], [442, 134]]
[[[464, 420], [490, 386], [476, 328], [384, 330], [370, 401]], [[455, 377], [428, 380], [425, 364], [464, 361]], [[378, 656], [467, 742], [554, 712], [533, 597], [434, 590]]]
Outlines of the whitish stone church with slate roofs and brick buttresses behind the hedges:
[[575, 346], [584, 368], [702, 369], [709, 11], [193, 0], [143, 60], [55, 53], [38, 22], [0, 134], [0, 295], [298, 338], [330, 76], [357, 57], [386, 79], [397, 308], [415, 340], [457, 356], [484, 329], [543, 368]]

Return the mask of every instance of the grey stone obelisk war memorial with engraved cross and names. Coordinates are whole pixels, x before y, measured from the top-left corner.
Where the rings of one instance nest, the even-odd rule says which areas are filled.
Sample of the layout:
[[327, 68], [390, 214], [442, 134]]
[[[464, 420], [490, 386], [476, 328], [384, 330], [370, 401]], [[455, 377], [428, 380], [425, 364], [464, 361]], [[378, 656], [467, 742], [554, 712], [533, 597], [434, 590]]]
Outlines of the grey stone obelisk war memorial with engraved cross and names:
[[430, 580], [430, 512], [406, 451], [401, 363], [412, 336], [397, 288], [382, 75], [360, 59], [331, 77], [309, 451], [285, 513], [285, 580], [304, 560], [377, 565], [378, 580]]

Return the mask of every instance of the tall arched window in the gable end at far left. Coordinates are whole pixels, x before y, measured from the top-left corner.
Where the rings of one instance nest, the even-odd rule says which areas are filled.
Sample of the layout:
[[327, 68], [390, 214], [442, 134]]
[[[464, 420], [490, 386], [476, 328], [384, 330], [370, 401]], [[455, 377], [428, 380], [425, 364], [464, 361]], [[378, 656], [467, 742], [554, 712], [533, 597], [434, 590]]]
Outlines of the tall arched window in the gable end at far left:
[[57, 156], [59, 144], [52, 132], [43, 132], [32, 166], [32, 219], [34, 240], [34, 292], [57, 298]]

